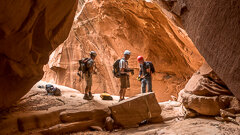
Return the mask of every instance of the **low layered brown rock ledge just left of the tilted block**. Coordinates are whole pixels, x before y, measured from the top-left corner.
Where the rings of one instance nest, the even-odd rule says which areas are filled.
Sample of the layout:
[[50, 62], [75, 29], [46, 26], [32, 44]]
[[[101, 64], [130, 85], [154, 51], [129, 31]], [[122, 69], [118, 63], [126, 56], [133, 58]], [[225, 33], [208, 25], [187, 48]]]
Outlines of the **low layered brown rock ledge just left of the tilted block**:
[[61, 124], [40, 131], [42, 134], [66, 134], [84, 130], [102, 130], [110, 116], [109, 109], [69, 110], [60, 114]]

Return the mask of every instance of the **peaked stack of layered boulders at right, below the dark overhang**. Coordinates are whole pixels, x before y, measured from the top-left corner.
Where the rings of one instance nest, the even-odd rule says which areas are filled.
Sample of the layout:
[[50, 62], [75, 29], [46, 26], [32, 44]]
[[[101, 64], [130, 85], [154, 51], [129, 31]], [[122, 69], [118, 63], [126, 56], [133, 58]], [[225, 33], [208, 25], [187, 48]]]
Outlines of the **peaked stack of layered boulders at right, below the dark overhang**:
[[219, 115], [220, 109], [230, 107], [232, 93], [215, 72], [204, 63], [179, 92], [178, 100], [186, 109], [202, 115]]

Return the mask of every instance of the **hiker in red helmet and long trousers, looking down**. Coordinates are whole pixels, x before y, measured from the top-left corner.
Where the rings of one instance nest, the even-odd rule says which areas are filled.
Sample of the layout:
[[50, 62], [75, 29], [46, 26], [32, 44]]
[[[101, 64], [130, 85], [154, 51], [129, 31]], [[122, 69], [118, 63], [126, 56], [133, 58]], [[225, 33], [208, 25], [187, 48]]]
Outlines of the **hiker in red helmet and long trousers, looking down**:
[[152, 72], [150, 68], [150, 63], [144, 61], [142, 56], [138, 56], [137, 60], [140, 64], [138, 80], [141, 81], [142, 93], [146, 93], [146, 85], [148, 87], [148, 92], [152, 92]]

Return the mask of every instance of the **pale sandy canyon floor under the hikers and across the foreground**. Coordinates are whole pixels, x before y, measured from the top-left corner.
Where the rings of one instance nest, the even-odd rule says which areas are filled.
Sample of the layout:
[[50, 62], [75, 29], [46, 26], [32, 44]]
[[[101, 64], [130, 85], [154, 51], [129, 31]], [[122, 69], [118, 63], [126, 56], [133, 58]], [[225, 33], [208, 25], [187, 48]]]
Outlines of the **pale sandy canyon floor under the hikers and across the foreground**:
[[[118, 102], [119, 97], [113, 96], [112, 101], [104, 101], [99, 94], [94, 94], [92, 101], [83, 100], [83, 94], [79, 91], [55, 85], [61, 89], [62, 96], [48, 96], [45, 89], [40, 89], [38, 85], [45, 85], [45, 82], [40, 81], [31, 91], [20, 99], [15, 105], [7, 110], [2, 110], [0, 115], [0, 133], [1, 134], [36, 134], [39, 129], [26, 130], [19, 132], [19, 117], [26, 117], [29, 124], [33, 114], [51, 113], [61, 109], [66, 110], [89, 110], [102, 109]], [[203, 135], [203, 134], [224, 134], [234, 135], [240, 134], [240, 127], [233, 123], [216, 121], [214, 117], [198, 117], [184, 119], [181, 103], [176, 101], [161, 102], [159, 105], [162, 108], [163, 123], [145, 124], [138, 128], [117, 129], [113, 132], [107, 131], [85, 131], [72, 133], [73, 135]], [[45, 123], [51, 122], [50, 118], [43, 118]], [[17, 121], [17, 122], [16, 122]], [[42, 123], [42, 122], [41, 122]], [[6, 126], [7, 125], [7, 126]], [[31, 126], [27, 127], [30, 128]]]

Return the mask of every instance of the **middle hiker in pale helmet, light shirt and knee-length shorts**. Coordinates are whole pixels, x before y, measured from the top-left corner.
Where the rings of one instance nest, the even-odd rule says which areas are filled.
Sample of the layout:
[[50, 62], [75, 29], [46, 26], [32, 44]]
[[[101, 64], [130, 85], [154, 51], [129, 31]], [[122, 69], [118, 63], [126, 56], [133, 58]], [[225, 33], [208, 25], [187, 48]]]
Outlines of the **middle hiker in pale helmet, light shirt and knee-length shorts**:
[[130, 81], [129, 81], [129, 72], [134, 74], [133, 69], [128, 68], [128, 59], [131, 56], [131, 52], [129, 50], [124, 51], [124, 57], [119, 62], [119, 69], [120, 69], [120, 99], [119, 101], [124, 100], [126, 89], [130, 88]]

